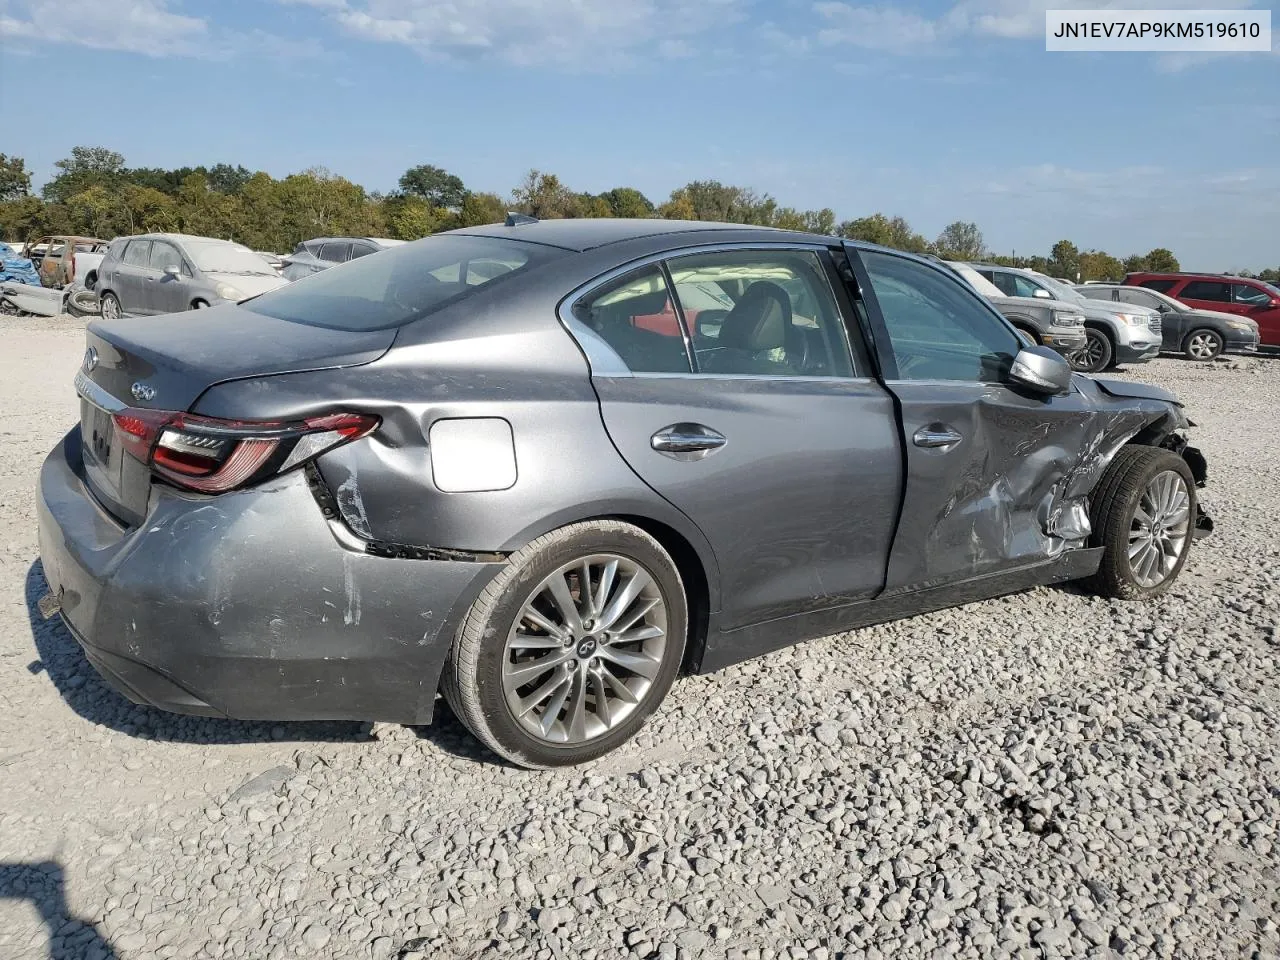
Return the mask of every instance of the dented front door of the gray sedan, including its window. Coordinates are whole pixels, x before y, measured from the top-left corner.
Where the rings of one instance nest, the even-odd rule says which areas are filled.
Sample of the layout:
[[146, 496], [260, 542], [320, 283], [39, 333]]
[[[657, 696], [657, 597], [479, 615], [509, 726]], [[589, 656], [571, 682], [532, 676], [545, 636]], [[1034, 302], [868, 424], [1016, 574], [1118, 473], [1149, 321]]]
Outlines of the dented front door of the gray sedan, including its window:
[[1078, 545], [1079, 516], [1061, 494], [1087, 449], [1089, 402], [1006, 385], [1018, 334], [957, 278], [893, 253], [847, 252], [906, 449], [886, 595]]

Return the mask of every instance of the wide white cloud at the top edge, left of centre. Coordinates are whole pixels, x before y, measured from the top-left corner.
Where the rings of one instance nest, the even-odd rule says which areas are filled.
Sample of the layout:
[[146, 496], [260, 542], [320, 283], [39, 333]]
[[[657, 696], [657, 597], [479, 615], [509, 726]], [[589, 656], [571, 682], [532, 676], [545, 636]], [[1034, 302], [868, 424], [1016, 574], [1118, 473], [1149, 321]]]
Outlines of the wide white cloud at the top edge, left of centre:
[[278, 0], [351, 36], [428, 58], [584, 70], [691, 56], [691, 38], [741, 19], [744, 0]]

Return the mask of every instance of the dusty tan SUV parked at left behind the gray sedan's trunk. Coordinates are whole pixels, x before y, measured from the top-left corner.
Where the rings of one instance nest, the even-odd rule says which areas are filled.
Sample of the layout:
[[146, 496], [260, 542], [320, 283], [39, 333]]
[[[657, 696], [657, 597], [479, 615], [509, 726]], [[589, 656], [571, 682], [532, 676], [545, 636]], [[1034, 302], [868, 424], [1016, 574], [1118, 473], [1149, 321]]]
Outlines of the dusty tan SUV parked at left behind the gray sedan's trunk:
[[284, 285], [248, 247], [210, 237], [148, 233], [111, 242], [99, 268], [102, 316], [175, 314], [234, 303]]

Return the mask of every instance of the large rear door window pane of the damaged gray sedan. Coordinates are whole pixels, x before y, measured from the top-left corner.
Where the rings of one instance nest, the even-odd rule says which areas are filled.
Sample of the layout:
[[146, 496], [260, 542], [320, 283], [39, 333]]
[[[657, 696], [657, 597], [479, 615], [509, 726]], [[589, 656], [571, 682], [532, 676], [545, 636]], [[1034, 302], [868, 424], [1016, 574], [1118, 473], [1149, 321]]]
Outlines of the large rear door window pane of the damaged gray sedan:
[[852, 376], [826, 266], [808, 251], [724, 251], [667, 264], [698, 370]]

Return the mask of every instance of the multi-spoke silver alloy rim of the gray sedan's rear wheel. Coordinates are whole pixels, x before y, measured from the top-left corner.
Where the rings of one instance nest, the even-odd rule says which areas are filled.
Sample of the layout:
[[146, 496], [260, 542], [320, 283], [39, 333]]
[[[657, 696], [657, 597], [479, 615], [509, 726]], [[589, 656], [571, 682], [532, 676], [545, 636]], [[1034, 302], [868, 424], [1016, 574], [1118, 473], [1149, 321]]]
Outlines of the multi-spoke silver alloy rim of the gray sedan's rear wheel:
[[645, 700], [668, 630], [662, 591], [636, 561], [600, 553], [566, 563], [538, 585], [507, 636], [507, 707], [539, 740], [603, 736]]

